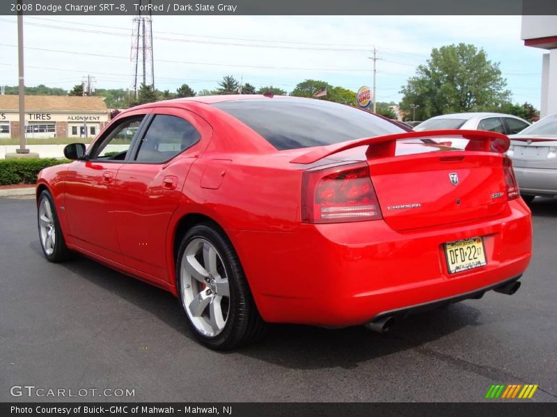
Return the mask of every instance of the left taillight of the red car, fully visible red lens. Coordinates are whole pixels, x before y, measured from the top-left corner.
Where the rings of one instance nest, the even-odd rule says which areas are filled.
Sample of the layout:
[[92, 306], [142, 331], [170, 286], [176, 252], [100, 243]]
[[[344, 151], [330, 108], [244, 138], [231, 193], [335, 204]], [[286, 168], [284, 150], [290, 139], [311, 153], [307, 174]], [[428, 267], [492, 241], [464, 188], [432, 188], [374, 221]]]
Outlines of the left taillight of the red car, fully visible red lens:
[[367, 163], [304, 172], [301, 185], [302, 222], [361, 222], [382, 218]]

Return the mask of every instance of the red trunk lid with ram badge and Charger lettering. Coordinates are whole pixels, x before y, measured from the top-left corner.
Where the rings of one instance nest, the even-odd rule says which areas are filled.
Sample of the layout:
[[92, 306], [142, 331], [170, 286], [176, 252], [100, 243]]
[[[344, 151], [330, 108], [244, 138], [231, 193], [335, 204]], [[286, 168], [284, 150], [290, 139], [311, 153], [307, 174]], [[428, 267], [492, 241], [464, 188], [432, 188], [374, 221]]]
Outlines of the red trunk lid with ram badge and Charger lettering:
[[383, 218], [398, 231], [494, 217], [507, 206], [501, 154], [430, 152], [368, 163]]

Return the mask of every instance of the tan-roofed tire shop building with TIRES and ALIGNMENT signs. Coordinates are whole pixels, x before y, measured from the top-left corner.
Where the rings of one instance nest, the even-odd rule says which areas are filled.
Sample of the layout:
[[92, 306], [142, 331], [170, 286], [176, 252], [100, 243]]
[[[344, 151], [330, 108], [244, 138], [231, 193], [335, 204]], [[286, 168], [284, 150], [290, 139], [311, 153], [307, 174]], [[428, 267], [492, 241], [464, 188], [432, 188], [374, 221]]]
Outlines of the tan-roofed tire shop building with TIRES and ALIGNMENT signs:
[[[95, 138], [108, 121], [102, 97], [25, 96], [26, 138]], [[17, 95], [0, 95], [0, 138], [19, 138]]]

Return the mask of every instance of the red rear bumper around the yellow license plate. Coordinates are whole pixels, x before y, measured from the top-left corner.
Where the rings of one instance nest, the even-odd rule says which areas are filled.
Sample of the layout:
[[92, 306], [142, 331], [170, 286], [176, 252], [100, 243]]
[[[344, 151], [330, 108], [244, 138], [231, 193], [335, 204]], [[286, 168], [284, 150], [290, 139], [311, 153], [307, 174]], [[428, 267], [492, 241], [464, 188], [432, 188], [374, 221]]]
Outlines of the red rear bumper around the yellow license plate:
[[[466, 295], [521, 275], [532, 228], [521, 199], [474, 224], [393, 231], [386, 222], [302, 224], [291, 233], [228, 231], [269, 322], [348, 326]], [[443, 245], [483, 236], [487, 265], [450, 275]]]

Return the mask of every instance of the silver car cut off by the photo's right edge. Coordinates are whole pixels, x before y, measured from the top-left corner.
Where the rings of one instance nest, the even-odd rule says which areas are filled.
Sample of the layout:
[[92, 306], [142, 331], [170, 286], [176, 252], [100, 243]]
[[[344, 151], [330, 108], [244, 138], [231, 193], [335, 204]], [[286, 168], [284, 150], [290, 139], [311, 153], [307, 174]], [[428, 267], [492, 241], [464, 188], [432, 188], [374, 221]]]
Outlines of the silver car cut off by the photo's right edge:
[[544, 117], [511, 139], [507, 155], [526, 202], [536, 195], [557, 195], [557, 114]]

